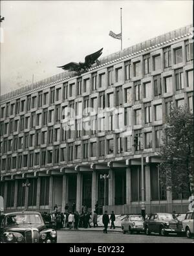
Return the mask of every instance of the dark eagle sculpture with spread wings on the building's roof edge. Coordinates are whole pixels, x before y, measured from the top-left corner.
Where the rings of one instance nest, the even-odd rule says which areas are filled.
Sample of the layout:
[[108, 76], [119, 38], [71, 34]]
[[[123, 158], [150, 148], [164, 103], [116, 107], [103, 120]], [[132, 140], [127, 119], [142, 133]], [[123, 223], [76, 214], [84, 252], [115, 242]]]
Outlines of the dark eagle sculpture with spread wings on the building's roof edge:
[[98, 58], [102, 54], [102, 50], [103, 48], [97, 52], [94, 52], [92, 54], [85, 56], [85, 62], [79, 62], [79, 63], [69, 62], [69, 64], [65, 64], [60, 67], [64, 70], [76, 71], [78, 73], [86, 72], [92, 66], [92, 64], [94, 63], [99, 64]]

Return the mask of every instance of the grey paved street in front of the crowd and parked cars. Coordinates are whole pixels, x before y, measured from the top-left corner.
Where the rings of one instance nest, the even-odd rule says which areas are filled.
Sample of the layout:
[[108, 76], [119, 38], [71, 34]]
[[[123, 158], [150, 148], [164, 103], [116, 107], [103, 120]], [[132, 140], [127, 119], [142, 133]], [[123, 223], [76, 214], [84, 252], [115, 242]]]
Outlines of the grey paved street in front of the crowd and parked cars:
[[193, 239], [169, 235], [160, 237], [159, 235], [144, 235], [109, 231], [74, 231], [58, 230], [58, 243], [192, 243]]

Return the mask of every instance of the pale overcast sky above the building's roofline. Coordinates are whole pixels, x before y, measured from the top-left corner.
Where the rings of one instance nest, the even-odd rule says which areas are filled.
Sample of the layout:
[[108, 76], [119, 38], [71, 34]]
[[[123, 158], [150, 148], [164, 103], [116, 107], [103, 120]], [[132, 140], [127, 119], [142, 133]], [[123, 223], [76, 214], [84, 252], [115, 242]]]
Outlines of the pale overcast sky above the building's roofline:
[[61, 73], [57, 66], [84, 62], [160, 36], [193, 21], [192, 1], [1, 1], [1, 95]]

